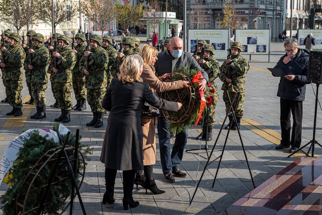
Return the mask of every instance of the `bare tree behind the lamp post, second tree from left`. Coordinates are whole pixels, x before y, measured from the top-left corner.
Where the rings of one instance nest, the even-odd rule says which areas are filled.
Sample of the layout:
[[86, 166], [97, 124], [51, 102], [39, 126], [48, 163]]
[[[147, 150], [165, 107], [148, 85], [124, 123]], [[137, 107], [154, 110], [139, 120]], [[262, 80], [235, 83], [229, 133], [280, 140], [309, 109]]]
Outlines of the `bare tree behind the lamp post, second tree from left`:
[[[41, 20], [52, 26], [52, 1], [43, 1], [41, 9]], [[54, 1], [54, 31], [56, 32], [56, 26], [66, 21], [71, 21], [72, 18], [79, 13], [78, 2], [75, 1]]]

